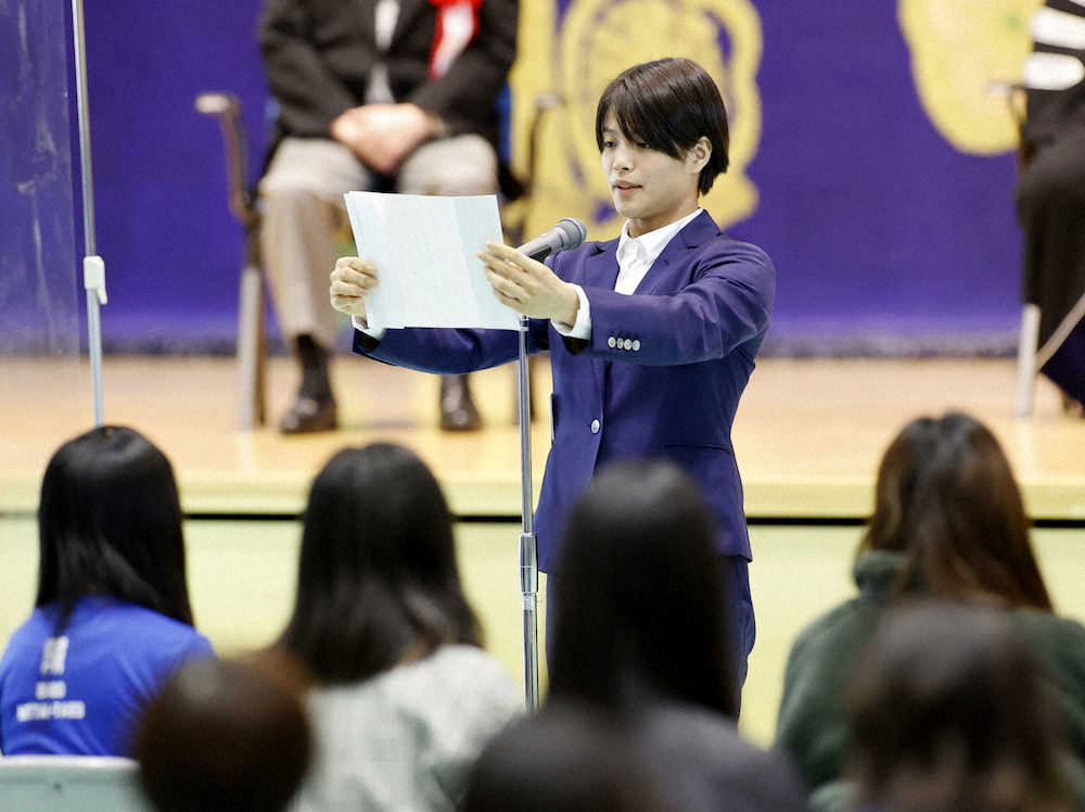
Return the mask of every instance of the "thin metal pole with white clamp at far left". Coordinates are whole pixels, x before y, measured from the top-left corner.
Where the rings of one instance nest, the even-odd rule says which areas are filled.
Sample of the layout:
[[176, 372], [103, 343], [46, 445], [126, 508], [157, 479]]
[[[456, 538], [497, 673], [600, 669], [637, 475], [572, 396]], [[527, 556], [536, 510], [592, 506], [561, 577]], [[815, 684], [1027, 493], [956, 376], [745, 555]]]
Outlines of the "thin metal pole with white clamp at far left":
[[82, 287], [87, 291], [87, 330], [90, 373], [94, 392], [94, 426], [105, 422], [102, 401], [102, 321], [99, 307], [105, 295], [105, 262], [98, 256], [94, 240], [94, 181], [90, 168], [90, 117], [87, 104], [87, 46], [82, 25], [82, 0], [72, 0], [75, 48], [76, 98], [79, 110], [79, 168], [82, 175]]

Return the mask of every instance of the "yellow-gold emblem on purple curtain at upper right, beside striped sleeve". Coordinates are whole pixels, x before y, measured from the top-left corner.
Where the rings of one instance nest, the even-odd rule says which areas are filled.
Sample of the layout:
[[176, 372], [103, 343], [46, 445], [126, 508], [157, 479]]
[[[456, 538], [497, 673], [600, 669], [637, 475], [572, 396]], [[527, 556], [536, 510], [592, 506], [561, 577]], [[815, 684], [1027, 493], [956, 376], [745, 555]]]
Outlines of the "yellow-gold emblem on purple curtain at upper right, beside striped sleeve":
[[1029, 21], [1042, 0], [899, 0], [901, 29], [927, 115], [961, 152], [994, 155], [1018, 143], [991, 83], [1018, 81], [1032, 50]]

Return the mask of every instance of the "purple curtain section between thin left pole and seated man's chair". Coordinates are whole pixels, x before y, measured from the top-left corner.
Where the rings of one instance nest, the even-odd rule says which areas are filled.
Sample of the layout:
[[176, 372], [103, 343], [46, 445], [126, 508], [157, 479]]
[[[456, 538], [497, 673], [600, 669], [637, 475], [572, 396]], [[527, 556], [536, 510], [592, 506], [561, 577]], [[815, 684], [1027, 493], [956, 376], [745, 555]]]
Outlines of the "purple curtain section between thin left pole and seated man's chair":
[[108, 0], [85, 13], [106, 346], [232, 348], [243, 240], [218, 124], [194, 101], [238, 94], [263, 154], [260, 1]]

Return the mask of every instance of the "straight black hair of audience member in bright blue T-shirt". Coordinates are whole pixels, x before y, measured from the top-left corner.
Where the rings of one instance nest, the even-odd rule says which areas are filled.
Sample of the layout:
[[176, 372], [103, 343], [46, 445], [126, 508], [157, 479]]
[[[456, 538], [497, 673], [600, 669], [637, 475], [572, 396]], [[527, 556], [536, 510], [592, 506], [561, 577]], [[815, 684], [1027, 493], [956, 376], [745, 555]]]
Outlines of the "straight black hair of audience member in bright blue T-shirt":
[[138, 431], [103, 426], [62, 445], [38, 506], [35, 606], [60, 602], [58, 631], [87, 595], [192, 624], [174, 469]]

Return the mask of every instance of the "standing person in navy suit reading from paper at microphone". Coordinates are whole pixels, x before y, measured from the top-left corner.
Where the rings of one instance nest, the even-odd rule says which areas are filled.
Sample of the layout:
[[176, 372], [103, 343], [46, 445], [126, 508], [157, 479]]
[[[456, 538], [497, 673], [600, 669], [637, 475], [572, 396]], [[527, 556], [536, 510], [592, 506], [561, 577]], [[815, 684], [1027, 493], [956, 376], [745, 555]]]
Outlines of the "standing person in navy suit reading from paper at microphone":
[[[730, 432], [768, 329], [776, 270], [698, 205], [727, 168], [728, 143], [723, 100], [703, 68], [669, 59], [624, 72], [600, 99], [596, 135], [615, 208], [628, 218], [622, 237], [546, 265], [496, 242], [478, 254], [495, 295], [531, 317], [531, 352], [550, 353], [553, 442], [535, 515], [539, 567], [552, 584], [565, 515], [600, 467], [677, 462], [717, 519], [744, 677], [752, 555]], [[376, 268], [358, 257], [340, 259], [331, 276], [333, 306], [358, 328], [356, 352], [442, 373], [516, 358], [511, 331], [369, 330], [365, 297], [376, 283]]]

